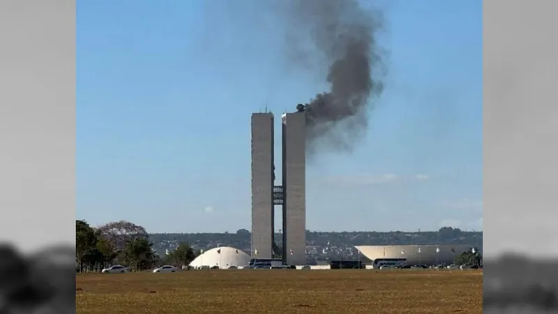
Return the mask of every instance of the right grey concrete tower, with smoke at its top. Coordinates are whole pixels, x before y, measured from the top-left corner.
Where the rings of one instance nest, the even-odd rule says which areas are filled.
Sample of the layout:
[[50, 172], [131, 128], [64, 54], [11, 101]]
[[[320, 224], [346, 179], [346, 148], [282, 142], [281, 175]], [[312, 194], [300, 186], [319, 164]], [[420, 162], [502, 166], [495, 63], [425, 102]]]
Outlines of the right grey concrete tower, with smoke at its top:
[[306, 264], [306, 117], [282, 116], [283, 256], [287, 264]]

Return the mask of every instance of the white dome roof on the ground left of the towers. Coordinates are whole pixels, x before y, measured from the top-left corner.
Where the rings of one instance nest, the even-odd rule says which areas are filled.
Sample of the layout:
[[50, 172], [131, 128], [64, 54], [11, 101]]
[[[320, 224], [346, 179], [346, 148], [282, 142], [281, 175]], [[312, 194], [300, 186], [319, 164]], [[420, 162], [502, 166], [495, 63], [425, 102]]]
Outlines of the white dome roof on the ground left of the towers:
[[250, 259], [250, 255], [246, 252], [237, 248], [222, 246], [220, 248], [211, 248], [211, 250], [205, 251], [202, 255], [199, 255], [195, 258], [195, 260], [190, 262], [190, 266], [218, 266], [221, 269], [227, 269], [231, 266], [248, 266], [248, 264], [250, 264]]

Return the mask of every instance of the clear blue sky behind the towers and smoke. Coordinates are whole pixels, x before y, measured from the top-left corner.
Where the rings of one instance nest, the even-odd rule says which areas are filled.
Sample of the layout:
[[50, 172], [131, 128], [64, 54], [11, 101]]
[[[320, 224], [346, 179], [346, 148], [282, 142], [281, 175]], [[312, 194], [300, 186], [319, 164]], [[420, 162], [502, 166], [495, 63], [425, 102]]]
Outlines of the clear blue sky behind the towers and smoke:
[[[250, 113], [326, 85], [288, 62], [285, 23], [234, 2], [78, 3], [77, 218], [250, 229]], [[482, 1], [385, 19], [386, 89], [351, 154], [308, 165], [307, 228], [482, 230]]]

